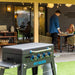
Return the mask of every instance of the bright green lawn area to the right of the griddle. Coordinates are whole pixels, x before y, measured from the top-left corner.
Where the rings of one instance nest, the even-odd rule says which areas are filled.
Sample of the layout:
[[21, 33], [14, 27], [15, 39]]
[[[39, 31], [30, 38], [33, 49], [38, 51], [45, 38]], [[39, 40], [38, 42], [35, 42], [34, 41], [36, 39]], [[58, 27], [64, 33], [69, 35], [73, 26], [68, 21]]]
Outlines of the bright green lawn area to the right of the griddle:
[[75, 61], [57, 63], [57, 75], [75, 75]]

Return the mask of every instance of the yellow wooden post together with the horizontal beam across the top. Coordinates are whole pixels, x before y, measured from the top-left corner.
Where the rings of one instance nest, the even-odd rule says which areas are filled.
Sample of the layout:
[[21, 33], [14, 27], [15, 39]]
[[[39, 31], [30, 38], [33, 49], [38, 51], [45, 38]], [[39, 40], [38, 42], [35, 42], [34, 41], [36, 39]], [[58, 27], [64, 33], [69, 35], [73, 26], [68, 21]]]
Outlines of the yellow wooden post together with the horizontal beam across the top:
[[75, 4], [75, 0], [0, 0], [0, 2], [34, 3], [34, 42], [39, 42], [38, 3]]

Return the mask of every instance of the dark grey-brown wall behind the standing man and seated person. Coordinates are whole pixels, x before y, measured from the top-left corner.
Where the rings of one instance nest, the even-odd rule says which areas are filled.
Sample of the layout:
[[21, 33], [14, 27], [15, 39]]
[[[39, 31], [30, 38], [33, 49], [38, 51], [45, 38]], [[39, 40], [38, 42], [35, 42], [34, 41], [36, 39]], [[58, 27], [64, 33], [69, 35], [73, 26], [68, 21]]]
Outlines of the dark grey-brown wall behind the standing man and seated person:
[[[75, 25], [75, 5], [69, 8], [66, 7], [65, 5], [62, 5], [58, 9], [62, 12], [62, 15], [59, 17], [60, 27], [61, 27], [61, 30], [65, 32], [70, 24]], [[49, 19], [56, 10], [57, 10], [56, 5], [52, 9], [48, 8], [48, 15], [47, 15], [48, 16], [48, 26], [49, 26]]]

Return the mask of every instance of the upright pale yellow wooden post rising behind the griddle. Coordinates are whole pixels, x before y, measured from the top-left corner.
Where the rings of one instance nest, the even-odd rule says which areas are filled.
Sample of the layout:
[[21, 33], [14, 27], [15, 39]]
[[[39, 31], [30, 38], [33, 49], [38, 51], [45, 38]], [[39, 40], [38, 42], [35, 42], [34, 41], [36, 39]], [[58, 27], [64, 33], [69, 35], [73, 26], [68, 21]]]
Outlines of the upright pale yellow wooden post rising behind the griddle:
[[34, 3], [34, 42], [39, 42], [38, 3]]

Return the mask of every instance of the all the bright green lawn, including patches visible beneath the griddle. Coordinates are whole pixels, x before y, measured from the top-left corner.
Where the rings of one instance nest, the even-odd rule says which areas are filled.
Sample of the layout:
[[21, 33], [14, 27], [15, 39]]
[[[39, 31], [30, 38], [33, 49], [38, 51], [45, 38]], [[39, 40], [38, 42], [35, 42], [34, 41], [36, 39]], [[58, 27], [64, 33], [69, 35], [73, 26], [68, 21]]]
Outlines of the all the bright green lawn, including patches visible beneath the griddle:
[[[42, 72], [39, 66], [38, 75], [43, 75]], [[4, 75], [17, 75], [17, 68], [5, 70]], [[27, 70], [26, 75], [32, 75], [31, 69]], [[75, 61], [57, 63], [57, 75], [75, 75]]]

